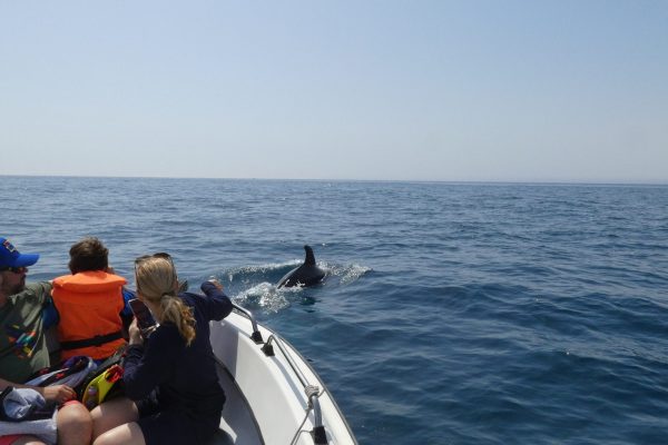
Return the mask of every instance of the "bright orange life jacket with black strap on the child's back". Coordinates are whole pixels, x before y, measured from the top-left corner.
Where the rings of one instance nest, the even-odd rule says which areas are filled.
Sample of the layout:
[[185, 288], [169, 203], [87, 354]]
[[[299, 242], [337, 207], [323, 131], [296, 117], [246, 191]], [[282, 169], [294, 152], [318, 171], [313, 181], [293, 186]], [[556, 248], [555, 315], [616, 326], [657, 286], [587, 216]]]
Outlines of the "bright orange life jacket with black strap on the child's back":
[[87, 355], [102, 359], [112, 355], [122, 338], [120, 312], [124, 277], [106, 271], [81, 271], [53, 280], [51, 295], [58, 309], [61, 358]]

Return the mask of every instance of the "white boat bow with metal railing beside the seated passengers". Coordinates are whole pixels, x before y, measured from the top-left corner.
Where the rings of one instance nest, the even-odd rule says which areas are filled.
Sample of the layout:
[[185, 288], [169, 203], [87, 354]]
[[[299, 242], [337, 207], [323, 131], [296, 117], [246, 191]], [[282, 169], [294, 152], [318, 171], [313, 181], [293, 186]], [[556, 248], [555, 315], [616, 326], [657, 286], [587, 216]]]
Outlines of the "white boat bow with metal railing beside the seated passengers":
[[212, 322], [212, 345], [227, 400], [210, 445], [357, 444], [313, 368], [248, 310]]

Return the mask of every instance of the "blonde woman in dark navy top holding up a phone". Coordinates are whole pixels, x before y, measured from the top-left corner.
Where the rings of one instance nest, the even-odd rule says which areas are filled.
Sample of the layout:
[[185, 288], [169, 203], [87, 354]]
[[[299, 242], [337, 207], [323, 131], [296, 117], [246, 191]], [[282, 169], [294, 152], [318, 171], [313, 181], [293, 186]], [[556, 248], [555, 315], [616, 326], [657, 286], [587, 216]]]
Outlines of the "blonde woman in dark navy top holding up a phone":
[[158, 323], [148, 338], [137, 322], [129, 327], [124, 387], [126, 397], [92, 409], [94, 444], [193, 444], [218, 431], [225, 393], [218, 384], [209, 322], [232, 312], [217, 280], [205, 295], [178, 294], [171, 258], [165, 254], [135, 261], [137, 298]]

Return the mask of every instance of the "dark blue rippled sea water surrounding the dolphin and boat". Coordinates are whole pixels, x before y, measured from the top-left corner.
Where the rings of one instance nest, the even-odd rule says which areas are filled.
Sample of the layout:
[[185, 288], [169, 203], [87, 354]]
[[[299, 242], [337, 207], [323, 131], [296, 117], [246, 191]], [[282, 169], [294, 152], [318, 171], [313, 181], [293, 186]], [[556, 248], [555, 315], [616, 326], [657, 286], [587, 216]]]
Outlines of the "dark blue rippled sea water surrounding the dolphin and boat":
[[[361, 444], [668, 442], [668, 187], [1, 177], [33, 279], [101, 238], [277, 329]], [[324, 285], [274, 284], [313, 246]]]

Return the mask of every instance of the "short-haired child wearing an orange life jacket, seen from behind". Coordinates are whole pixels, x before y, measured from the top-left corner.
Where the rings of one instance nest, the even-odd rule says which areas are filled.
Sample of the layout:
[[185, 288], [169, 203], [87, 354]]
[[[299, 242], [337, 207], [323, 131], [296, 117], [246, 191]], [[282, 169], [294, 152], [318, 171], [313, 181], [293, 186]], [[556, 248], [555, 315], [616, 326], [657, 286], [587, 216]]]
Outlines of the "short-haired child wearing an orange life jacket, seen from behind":
[[121, 312], [127, 280], [109, 268], [109, 249], [95, 237], [70, 248], [70, 275], [53, 279], [61, 359], [85, 355], [104, 360], [126, 345]]

